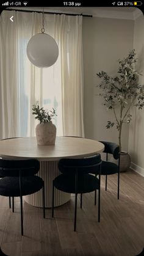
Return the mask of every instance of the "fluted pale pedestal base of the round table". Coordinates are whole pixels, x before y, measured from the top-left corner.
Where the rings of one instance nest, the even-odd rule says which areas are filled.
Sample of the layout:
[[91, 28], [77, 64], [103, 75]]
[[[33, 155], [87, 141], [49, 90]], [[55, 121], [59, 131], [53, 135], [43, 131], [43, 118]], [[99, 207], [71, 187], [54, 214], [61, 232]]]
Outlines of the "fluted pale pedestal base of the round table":
[[[52, 180], [57, 177], [60, 172], [57, 167], [58, 161], [40, 161], [40, 170], [38, 176], [45, 181], [45, 207], [52, 207]], [[55, 188], [54, 206], [60, 206], [70, 200], [70, 194], [59, 191]], [[42, 189], [35, 194], [25, 196], [24, 200], [35, 207], [43, 207]]]

